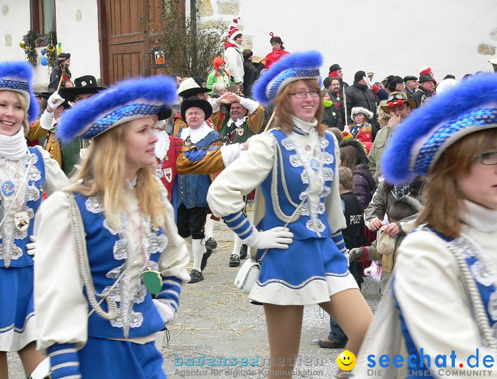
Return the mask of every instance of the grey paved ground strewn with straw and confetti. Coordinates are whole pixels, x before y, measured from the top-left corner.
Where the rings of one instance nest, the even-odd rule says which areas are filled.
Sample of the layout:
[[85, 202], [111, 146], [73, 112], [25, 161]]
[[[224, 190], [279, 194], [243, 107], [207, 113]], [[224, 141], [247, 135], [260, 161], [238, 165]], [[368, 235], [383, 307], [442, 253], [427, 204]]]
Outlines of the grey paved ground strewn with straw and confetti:
[[[228, 267], [233, 243], [223, 223], [215, 223], [215, 239], [218, 247], [208, 261], [205, 280], [188, 284], [182, 291], [177, 322], [169, 327], [170, 340], [162, 346], [164, 371], [170, 379], [265, 378], [269, 347], [262, 307], [251, 305], [233, 285], [237, 267]], [[362, 293], [376, 309], [379, 284], [367, 278]], [[313, 342], [328, 332], [329, 317], [317, 305], [306, 307], [294, 378], [332, 378], [342, 350], [322, 349]], [[8, 359], [10, 378], [25, 378], [17, 355], [9, 354]]]

